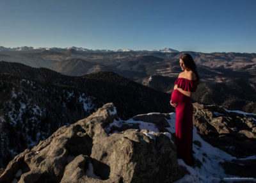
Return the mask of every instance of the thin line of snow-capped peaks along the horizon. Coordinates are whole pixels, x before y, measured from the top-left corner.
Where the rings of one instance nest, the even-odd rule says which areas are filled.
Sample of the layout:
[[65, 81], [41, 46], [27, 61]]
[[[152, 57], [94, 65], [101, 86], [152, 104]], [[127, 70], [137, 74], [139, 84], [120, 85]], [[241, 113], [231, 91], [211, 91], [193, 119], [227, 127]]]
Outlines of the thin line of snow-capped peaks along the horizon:
[[[83, 47], [66, 47], [66, 48], [60, 48], [60, 47], [27, 47], [27, 46], [23, 46], [23, 47], [3, 47], [0, 46], [0, 51], [34, 51], [34, 50], [39, 50], [39, 51], [67, 51], [70, 49], [74, 49], [75, 51], [95, 51], [95, 52], [129, 52], [129, 51], [133, 51], [132, 49], [116, 49], [116, 50], [110, 50], [110, 49], [96, 49], [96, 50], [92, 50], [92, 49], [86, 49]], [[175, 49], [170, 49], [170, 48], [164, 48], [164, 49], [154, 49], [154, 52], [179, 52]], [[150, 52], [147, 50], [143, 50], [140, 52]]]

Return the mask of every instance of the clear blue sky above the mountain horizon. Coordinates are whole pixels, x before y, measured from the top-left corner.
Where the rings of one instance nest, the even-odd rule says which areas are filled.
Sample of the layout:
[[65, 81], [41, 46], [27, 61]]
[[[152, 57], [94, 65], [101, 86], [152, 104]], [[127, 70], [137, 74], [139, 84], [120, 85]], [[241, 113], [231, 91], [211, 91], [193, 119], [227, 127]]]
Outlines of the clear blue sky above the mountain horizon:
[[256, 52], [255, 0], [1, 0], [0, 45]]

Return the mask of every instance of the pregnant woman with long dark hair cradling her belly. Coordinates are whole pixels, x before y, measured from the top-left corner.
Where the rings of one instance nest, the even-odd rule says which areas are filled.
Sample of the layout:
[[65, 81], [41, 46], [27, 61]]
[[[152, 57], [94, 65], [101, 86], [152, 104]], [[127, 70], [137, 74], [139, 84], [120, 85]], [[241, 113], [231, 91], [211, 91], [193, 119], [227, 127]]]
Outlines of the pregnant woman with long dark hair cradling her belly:
[[193, 105], [191, 103], [192, 92], [196, 91], [199, 76], [195, 61], [190, 54], [180, 56], [179, 77], [175, 81], [170, 104], [175, 107], [175, 144], [177, 145], [177, 158], [183, 159], [186, 164], [192, 166], [193, 145]]

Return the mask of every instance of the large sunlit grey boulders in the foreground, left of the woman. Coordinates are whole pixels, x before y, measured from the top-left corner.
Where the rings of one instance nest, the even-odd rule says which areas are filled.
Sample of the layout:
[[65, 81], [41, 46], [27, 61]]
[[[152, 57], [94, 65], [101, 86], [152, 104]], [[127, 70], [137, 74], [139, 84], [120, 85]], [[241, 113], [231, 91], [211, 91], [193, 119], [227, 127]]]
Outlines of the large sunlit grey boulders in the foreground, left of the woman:
[[[168, 126], [163, 116], [156, 120], [160, 127]], [[142, 129], [108, 133], [117, 119], [109, 103], [61, 127], [10, 161], [0, 182], [173, 182], [188, 173], [177, 164], [172, 136]]]

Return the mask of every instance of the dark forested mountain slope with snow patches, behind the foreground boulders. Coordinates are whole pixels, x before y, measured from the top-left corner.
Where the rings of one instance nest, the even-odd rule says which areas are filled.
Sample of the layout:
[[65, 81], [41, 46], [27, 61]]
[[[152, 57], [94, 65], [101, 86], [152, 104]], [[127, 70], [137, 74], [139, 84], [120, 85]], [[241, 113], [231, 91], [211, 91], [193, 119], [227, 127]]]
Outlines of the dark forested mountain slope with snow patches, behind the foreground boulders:
[[109, 101], [120, 108], [122, 118], [143, 111], [172, 111], [168, 94], [114, 72], [72, 77], [1, 61], [0, 88], [1, 166], [61, 125], [72, 124]]

